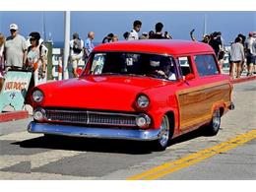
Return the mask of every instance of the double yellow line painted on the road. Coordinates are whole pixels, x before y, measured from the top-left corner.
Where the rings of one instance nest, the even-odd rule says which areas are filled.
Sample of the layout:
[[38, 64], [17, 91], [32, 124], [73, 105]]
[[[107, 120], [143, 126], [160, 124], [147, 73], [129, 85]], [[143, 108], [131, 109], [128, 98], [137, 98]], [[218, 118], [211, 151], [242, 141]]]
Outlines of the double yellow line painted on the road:
[[180, 160], [169, 161], [149, 169], [145, 172], [128, 177], [128, 180], [154, 180], [163, 177], [171, 172], [195, 164], [199, 161], [206, 160], [215, 155], [224, 153], [237, 146], [243, 145], [253, 139], [256, 139], [256, 130], [249, 131], [245, 134], [239, 135], [233, 139], [230, 139], [224, 143], [221, 143], [212, 148], [199, 151], [195, 154], [182, 158]]

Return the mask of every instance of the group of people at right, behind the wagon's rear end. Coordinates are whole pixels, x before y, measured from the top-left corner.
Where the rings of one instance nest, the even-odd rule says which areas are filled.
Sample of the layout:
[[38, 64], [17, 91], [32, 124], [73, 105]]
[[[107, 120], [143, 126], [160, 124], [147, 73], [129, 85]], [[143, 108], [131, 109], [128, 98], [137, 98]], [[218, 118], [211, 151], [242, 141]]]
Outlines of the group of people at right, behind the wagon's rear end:
[[[192, 40], [196, 41], [194, 36], [195, 30], [190, 32]], [[222, 32], [213, 32], [203, 35], [201, 42], [208, 43], [213, 47], [218, 58], [221, 70], [224, 65], [224, 54], [227, 50], [224, 49], [224, 39]], [[228, 51], [229, 58], [229, 76], [232, 79], [240, 78], [245, 70], [244, 64], [247, 66], [247, 76], [256, 74], [256, 32], [249, 32], [248, 37], [239, 33], [233, 42], [230, 43]]]

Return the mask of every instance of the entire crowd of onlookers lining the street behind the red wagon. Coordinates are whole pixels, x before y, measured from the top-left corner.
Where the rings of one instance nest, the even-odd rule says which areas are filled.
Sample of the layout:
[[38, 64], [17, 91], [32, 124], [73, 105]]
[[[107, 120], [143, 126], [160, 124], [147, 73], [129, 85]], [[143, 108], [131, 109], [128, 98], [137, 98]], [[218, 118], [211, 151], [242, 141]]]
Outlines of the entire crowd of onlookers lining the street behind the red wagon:
[[[157, 23], [155, 32], [139, 32], [142, 28], [142, 22], [134, 21], [133, 29], [130, 32], [124, 32], [125, 40], [138, 39], [171, 39], [169, 32], [162, 32], [163, 24]], [[19, 27], [16, 24], [10, 25], [11, 35], [5, 37], [0, 33], [0, 81], [3, 81], [4, 72], [10, 69], [26, 69], [32, 70], [34, 85], [46, 82], [46, 66], [47, 66], [47, 48], [43, 44], [39, 32], [31, 32], [29, 39], [19, 34]], [[190, 32], [192, 40], [196, 41], [194, 36], [195, 30]], [[95, 47], [95, 32], [88, 32], [87, 39], [84, 41], [80, 38], [79, 33], [74, 32], [70, 41], [69, 63], [72, 65], [74, 77], [78, 77], [78, 65], [84, 62]], [[103, 37], [101, 43], [110, 43], [118, 41], [118, 36], [114, 33], [108, 33]], [[200, 40], [211, 45], [217, 55], [220, 68], [223, 69], [224, 39], [222, 32], [212, 32], [205, 34]], [[247, 76], [256, 73], [256, 33], [249, 32], [248, 37], [239, 33], [231, 43], [229, 51], [229, 75], [231, 78], [240, 78], [244, 70], [244, 63], [247, 64]], [[0, 85], [2, 83], [0, 82]]]

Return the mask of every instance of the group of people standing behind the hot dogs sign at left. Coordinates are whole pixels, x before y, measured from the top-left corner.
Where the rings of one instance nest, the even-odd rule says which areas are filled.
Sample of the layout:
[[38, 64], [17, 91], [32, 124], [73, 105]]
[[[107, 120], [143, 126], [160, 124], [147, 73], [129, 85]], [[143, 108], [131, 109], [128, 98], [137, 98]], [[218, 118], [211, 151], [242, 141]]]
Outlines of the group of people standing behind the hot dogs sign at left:
[[26, 40], [18, 25], [11, 24], [9, 30], [11, 35], [6, 38], [0, 33], [0, 80], [9, 70], [29, 70], [34, 85], [45, 83], [48, 49], [39, 32], [31, 32]]

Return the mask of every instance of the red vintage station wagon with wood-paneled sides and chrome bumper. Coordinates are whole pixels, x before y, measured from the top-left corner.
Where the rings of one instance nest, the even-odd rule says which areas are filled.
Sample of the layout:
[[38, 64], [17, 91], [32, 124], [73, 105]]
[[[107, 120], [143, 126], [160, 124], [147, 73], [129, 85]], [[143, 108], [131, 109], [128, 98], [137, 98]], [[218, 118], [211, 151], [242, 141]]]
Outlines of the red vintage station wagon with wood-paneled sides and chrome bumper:
[[216, 135], [232, 109], [232, 85], [214, 50], [184, 40], [134, 40], [95, 47], [82, 75], [32, 90], [31, 133], [168, 141], [204, 126]]

